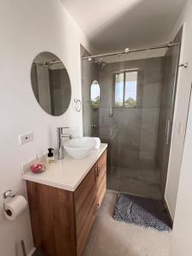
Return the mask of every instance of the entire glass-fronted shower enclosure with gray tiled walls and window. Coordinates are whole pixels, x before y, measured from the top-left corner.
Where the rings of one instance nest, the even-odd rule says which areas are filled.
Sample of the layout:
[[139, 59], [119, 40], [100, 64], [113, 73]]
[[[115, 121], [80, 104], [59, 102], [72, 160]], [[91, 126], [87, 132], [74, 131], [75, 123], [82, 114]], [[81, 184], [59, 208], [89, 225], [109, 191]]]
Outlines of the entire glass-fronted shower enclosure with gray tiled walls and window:
[[[108, 143], [108, 189], [164, 194], [181, 37], [182, 30], [164, 54], [82, 60], [84, 136]], [[89, 55], [83, 47], [81, 53]]]

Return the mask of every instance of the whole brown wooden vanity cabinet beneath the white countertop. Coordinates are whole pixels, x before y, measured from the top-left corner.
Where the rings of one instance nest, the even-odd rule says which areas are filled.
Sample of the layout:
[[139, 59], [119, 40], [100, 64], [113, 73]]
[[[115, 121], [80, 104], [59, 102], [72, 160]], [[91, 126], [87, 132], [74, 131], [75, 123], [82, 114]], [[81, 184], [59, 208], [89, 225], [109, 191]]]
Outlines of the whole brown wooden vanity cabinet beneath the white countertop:
[[26, 181], [35, 247], [49, 256], [81, 256], [106, 193], [107, 151], [74, 192]]

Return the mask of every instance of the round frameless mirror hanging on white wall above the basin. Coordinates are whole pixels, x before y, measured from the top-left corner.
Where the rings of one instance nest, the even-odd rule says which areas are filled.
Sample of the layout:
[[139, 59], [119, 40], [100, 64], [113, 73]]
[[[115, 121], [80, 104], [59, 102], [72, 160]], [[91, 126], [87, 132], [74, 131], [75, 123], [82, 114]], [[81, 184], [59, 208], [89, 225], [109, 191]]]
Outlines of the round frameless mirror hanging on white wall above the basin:
[[61, 115], [66, 112], [72, 96], [67, 69], [62, 61], [50, 52], [42, 52], [32, 62], [33, 93], [45, 112]]

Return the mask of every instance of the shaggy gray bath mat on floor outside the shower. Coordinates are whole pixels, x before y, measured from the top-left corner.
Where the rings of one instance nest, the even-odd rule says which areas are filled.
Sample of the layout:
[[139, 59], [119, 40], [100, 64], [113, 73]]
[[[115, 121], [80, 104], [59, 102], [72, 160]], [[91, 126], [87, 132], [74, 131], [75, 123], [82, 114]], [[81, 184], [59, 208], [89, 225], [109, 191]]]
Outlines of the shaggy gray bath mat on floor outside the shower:
[[119, 193], [113, 218], [145, 228], [170, 232], [172, 224], [162, 201]]

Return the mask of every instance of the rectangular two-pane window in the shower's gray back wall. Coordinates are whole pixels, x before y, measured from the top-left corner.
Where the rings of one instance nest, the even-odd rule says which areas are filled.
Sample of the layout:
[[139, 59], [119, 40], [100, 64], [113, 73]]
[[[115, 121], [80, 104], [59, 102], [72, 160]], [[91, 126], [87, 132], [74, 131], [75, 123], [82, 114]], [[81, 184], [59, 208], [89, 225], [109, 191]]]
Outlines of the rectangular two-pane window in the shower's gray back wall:
[[125, 71], [115, 74], [114, 107], [136, 107], [137, 73], [137, 71]]

